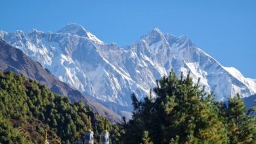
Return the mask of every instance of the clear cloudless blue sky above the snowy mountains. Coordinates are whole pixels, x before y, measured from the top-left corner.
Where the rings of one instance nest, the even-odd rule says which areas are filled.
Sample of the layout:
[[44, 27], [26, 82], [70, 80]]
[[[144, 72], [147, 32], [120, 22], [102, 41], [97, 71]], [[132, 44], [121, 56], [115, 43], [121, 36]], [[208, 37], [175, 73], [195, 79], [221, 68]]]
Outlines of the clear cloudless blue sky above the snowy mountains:
[[154, 27], [186, 35], [224, 66], [256, 79], [256, 1], [253, 0], [8, 0], [3, 31], [57, 31], [83, 25], [105, 43], [129, 45]]

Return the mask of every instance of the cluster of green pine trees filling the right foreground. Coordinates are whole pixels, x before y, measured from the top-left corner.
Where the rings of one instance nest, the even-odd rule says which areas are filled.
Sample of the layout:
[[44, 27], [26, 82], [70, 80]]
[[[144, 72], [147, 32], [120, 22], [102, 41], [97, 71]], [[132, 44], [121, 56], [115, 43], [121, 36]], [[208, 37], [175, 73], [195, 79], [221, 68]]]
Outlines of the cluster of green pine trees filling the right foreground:
[[[139, 101], [131, 96], [133, 118], [121, 127], [123, 143], [255, 143], [255, 117], [246, 114], [242, 99], [228, 107], [214, 101], [188, 76], [173, 73], [157, 81], [152, 95]], [[253, 109], [251, 110], [253, 111]]]

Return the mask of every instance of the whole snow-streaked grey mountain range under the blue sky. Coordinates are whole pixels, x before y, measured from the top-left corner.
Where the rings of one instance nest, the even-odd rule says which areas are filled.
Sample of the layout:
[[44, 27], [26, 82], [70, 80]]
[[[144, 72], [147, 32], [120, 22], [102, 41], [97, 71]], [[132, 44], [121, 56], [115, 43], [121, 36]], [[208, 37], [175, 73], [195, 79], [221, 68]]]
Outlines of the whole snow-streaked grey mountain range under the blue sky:
[[224, 67], [188, 39], [155, 28], [133, 45], [106, 44], [77, 24], [56, 33], [33, 29], [0, 31], [0, 39], [20, 48], [58, 77], [81, 92], [116, 105], [130, 106], [134, 92], [142, 98], [156, 79], [173, 69], [178, 75], [191, 71], [207, 92], [224, 101], [239, 93], [256, 94], [256, 80], [245, 78], [234, 67]]

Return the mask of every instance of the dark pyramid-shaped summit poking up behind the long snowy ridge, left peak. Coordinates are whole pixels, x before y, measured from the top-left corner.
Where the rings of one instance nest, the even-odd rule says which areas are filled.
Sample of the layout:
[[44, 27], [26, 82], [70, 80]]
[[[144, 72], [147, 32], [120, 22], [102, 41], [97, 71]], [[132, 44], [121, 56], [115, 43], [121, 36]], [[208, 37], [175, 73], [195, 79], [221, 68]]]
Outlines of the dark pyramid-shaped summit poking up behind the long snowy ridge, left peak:
[[67, 26], [63, 27], [57, 33], [70, 33], [75, 34], [80, 37], [87, 37], [91, 41], [94, 41], [95, 43], [104, 44], [100, 39], [98, 39], [95, 35], [87, 31], [83, 26], [75, 23], [70, 23]]

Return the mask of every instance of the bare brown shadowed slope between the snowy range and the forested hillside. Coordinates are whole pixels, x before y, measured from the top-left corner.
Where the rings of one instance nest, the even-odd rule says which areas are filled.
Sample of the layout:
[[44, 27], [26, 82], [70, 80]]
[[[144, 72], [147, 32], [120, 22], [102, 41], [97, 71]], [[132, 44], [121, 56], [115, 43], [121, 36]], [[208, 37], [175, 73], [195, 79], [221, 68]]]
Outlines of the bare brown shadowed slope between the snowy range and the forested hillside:
[[59, 81], [49, 70], [44, 69], [40, 63], [33, 61], [26, 56], [22, 50], [12, 47], [0, 39], [0, 70], [20, 73], [30, 79], [35, 79], [45, 84], [52, 92], [63, 96], [68, 96], [72, 102], [83, 101], [89, 105], [96, 113], [110, 119], [112, 122], [119, 122], [121, 118], [110, 109], [104, 107], [93, 99], [84, 96], [78, 90], [71, 88], [68, 84]]

